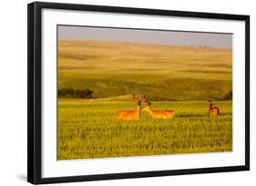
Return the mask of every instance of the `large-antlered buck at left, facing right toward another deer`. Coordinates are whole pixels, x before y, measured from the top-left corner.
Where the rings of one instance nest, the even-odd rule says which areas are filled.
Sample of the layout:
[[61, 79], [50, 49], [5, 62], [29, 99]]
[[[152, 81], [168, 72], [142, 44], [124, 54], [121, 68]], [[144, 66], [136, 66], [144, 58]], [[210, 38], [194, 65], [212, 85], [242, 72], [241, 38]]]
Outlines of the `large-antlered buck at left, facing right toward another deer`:
[[116, 113], [118, 120], [138, 120], [141, 116], [141, 103], [146, 101], [146, 95], [135, 96], [132, 94], [133, 100], [137, 103], [137, 107], [133, 110], [120, 110]]

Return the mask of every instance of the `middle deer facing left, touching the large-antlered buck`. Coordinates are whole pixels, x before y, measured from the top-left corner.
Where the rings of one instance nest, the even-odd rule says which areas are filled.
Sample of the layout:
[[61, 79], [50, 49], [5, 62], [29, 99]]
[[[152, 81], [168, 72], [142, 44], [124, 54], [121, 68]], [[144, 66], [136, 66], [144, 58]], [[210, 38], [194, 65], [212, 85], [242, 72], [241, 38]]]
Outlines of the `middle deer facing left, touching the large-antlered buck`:
[[173, 110], [153, 110], [150, 108], [151, 103], [146, 102], [146, 106], [142, 109], [142, 111], [148, 112], [153, 118], [158, 119], [171, 119], [175, 118], [175, 111]]

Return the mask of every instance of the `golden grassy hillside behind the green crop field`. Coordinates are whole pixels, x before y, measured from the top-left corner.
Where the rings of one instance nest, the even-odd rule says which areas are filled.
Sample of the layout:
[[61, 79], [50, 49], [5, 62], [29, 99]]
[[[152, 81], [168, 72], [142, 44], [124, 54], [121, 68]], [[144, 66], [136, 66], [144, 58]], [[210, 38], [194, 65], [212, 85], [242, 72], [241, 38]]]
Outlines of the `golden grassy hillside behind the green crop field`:
[[230, 49], [59, 41], [58, 87], [94, 97], [145, 93], [154, 101], [223, 100], [232, 90]]

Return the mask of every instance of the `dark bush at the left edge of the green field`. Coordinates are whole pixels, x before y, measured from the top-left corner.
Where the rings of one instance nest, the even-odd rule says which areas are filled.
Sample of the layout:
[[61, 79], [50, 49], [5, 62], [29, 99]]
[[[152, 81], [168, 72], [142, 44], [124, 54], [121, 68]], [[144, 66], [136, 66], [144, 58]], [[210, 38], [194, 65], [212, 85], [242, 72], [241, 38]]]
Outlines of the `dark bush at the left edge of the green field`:
[[93, 97], [93, 91], [90, 89], [74, 90], [72, 88], [58, 89], [58, 97], [63, 98], [83, 98], [89, 99]]

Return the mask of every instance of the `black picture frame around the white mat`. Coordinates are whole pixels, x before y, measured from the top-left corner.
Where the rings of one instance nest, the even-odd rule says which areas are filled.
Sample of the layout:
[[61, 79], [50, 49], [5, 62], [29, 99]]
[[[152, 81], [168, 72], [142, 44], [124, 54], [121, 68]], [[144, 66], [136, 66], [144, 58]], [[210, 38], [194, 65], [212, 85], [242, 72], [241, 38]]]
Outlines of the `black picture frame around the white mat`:
[[[109, 12], [134, 15], [164, 15], [178, 17], [196, 17], [209, 19], [239, 20], [245, 23], [245, 164], [240, 166], [211, 167], [175, 171], [143, 171], [97, 175], [77, 175], [68, 177], [42, 178], [42, 74], [41, 74], [41, 35], [42, 10], [44, 8], [59, 10], [78, 10], [92, 12]], [[74, 5], [35, 2], [27, 5], [27, 181], [34, 184], [69, 181], [100, 181], [129, 179], [141, 177], [170, 176], [180, 174], [199, 174], [223, 171], [250, 170], [250, 16], [226, 15], [199, 12], [142, 9], [100, 5]]]

